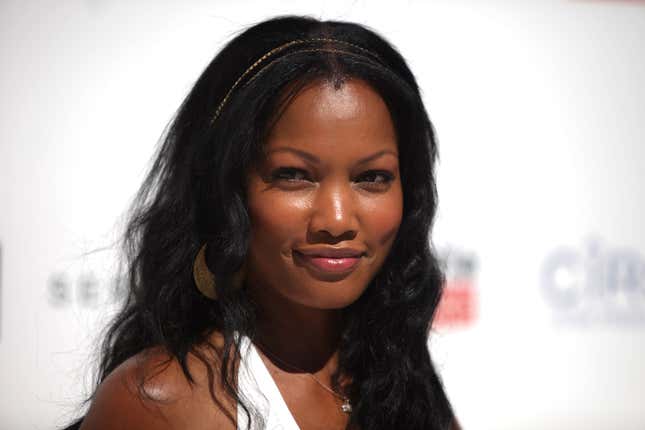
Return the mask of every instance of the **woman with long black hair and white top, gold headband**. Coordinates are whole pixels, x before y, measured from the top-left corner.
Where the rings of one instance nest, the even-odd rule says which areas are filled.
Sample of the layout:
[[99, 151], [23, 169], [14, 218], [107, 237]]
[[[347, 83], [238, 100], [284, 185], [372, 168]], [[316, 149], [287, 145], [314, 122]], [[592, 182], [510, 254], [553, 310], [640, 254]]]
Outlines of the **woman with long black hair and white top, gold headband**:
[[138, 194], [80, 428], [456, 427], [427, 349], [435, 156], [372, 31], [282, 17], [233, 39]]

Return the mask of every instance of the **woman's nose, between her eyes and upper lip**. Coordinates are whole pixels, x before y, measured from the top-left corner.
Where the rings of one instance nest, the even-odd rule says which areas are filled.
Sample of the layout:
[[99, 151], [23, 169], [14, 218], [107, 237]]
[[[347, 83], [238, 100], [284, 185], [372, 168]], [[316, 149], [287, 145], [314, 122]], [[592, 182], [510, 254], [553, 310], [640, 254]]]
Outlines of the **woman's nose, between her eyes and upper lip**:
[[[345, 181], [346, 182], [346, 181]], [[313, 241], [352, 240], [358, 233], [356, 202], [351, 185], [337, 181], [321, 184], [313, 202], [309, 222]]]

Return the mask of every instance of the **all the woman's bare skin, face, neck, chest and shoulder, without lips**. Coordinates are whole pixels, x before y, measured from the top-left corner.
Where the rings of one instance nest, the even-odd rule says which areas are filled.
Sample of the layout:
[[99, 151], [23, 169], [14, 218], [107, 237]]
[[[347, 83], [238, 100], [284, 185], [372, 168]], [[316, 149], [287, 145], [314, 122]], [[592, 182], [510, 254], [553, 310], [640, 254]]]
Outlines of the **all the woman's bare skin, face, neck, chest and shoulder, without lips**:
[[[396, 134], [384, 101], [363, 81], [337, 84], [314, 82], [290, 101], [265, 143], [266, 159], [247, 175], [246, 286], [260, 310], [256, 345], [303, 430], [347, 425], [341, 400], [309, 373], [331, 386], [340, 311], [378, 273], [403, 212]], [[322, 273], [298, 257], [312, 246], [363, 254], [350, 273]], [[221, 336], [214, 333], [211, 342], [221, 346]], [[81, 428], [235, 429], [226, 414], [235, 417], [234, 402], [216, 378], [215, 394], [225, 400], [215, 406], [205, 367], [188, 358], [192, 386], [163, 350], [129, 359], [99, 386]], [[158, 367], [165, 360], [168, 365]], [[144, 384], [152, 399], [137, 390], [142, 373], [156, 373]]]

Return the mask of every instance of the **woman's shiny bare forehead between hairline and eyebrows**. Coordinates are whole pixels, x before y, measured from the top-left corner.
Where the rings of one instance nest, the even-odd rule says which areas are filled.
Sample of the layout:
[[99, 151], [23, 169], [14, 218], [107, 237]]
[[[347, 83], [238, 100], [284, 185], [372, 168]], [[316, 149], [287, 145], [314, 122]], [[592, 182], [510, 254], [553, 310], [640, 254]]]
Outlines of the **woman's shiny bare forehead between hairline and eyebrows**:
[[319, 156], [362, 157], [396, 152], [396, 133], [387, 105], [364, 81], [340, 86], [323, 80], [300, 90], [284, 108], [266, 141], [265, 152], [292, 147]]

